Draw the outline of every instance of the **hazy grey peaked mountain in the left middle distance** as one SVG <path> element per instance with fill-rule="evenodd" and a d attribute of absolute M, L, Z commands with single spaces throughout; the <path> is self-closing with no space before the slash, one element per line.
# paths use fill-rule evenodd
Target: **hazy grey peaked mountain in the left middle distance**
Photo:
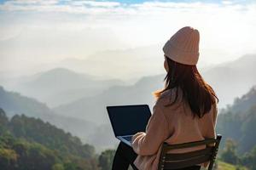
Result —
<path fill-rule="evenodd" d="M 125 82 L 118 79 L 102 80 L 65 68 L 55 68 L 30 77 L 15 77 L 15 81 L 9 81 L 6 86 L 49 106 L 56 106 L 100 94 L 113 85 L 125 85 Z"/>

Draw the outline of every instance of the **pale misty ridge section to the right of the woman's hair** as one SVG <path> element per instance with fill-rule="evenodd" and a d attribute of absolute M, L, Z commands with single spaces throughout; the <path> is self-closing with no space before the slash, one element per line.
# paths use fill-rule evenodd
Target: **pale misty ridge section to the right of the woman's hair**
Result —
<path fill-rule="evenodd" d="M 256 84 L 256 54 L 247 54 L 239 59 L 201 71 L 219 98 L 219 108 L 232 105 L 234 99 L 246 94 Z"/>

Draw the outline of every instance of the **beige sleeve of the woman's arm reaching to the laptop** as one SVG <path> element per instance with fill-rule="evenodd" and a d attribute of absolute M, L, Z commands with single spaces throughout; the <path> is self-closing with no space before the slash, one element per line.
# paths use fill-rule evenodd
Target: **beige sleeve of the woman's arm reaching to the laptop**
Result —
<path fill-rule="evenodd" d="M 160 105 L 154 105 L 153 114 L 148 121 L 146 132 L 139 132 L 132 137 L 132 148 L 141 156 L 154 155 L 168 137 L 166 116 Z"/>

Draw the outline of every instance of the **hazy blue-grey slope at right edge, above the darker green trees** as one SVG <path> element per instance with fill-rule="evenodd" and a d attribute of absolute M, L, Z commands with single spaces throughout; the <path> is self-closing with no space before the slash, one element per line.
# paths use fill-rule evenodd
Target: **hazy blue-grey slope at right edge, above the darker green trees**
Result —
<path fill-rule="evenodd" d="M 256 144 L 256 87 L 237 98 L 233 105 L 219 111 L 217 131 L 224 140 L 233 139 L 237 143 L 239 153 L 252 150 Z"/>

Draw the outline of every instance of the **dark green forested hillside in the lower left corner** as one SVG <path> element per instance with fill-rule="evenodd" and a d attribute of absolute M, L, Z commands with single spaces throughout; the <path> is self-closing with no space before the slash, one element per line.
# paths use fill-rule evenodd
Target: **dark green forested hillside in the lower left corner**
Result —
<path fill-rule="evenodd" d="M 0 167 L 19 170 L 96 170 L 94 147 L 49 122 L 0 109 Z"/>

